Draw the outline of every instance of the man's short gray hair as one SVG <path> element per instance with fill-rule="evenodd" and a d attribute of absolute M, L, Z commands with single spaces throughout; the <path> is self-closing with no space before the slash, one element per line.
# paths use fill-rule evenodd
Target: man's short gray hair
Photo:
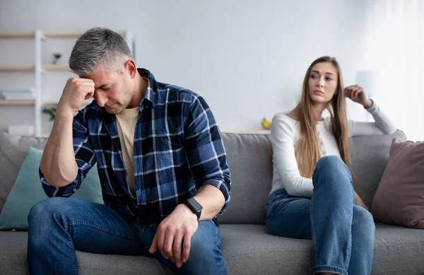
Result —
<path fill-rule="evenodd" d="M 69 57 L 69 68 L 78 76 L 88 76 L 103 64 L 106 69 L 122 73 L 124 58 L 133 57 L 121 35 L 107 28 L 92 28 L 76 40 Z"/>

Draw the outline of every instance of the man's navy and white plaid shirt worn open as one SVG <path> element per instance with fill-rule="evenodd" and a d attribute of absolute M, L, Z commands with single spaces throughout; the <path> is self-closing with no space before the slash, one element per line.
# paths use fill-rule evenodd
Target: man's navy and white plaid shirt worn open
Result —
<path fill-rule="evenodd" d="M 115 115 L 93 101 L 73 119 L 73 151 L 78 176 L 69 185 L 53 187 L 40 171 L 49 197 L 69 197 L 97 162 L 107 206 L 141 221 L 159 222 L 196 189 L 213 185 L 230 201 L 230 170 L 220 130 L 204 98 L 190 90 L 148 79 L 134 134 L 136 198 L 126 170 Z"/>

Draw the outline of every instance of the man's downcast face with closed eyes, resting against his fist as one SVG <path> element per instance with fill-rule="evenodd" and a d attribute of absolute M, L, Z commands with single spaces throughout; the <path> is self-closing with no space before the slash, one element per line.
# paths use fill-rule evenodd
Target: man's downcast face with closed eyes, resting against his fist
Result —
<path fill-rule="evenodd" d="M 89 76 L 94 81 L 95 91 L 93 98 L 100 107 L 110 114 L 122 112 L 132 98 L 131 78 L 123 70 L 122 74 L 111 69 L 108 70 L 100 64 Z"/>

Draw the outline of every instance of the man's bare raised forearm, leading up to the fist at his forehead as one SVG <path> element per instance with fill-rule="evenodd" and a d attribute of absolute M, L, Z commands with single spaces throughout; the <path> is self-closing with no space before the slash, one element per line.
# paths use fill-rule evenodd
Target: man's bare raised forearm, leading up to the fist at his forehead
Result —
<path fill-rule="evenodd" d="M 57 113 L 40 162 L 40 170 L 49 185 L 69 185 L 78 174 L 72 141 L 72 115 Z"/>

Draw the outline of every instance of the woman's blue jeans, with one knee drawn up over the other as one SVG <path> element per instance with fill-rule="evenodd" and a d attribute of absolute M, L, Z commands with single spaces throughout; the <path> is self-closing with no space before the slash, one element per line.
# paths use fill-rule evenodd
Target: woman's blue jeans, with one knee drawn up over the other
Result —
<path fill-rule="evenodd" d="M 285 189 L 266 202 L 271 235 L 312 239 L 311 272 L 371 274 L 375 224 L 370 212 L 355 205 L 351 172 L 337 156 L 321 158 L 312 176 L 311 199 Z"/>

